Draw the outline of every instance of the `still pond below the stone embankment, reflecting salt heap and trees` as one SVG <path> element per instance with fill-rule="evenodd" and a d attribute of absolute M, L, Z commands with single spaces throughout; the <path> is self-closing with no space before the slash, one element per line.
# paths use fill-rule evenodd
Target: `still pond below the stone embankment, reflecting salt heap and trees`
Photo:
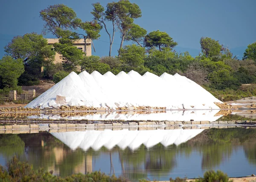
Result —
<path fill-rule="evenodd" d="M 253 128 L 121 131 L 1 134 L 0 165 L 17 155 L 59 176 L 100 170 L 131 181 L 195 178 L 209 169 L 232 177 L 256 173 Z"/>

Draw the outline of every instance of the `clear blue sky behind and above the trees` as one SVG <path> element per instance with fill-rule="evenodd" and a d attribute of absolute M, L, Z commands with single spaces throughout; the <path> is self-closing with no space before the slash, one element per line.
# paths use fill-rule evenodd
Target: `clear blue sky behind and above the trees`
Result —
<path fill-rule="evenodd" d="M 176 51 L 200 51 L 200 38 L 211 37 L 228 46 L 241 59 L 244 49 L 256 41 L 256 0 L 130 0 L 142 10 L 135 23 L 148 32 L 166 31 L 178 43 Z M 92 3 L 105 6 L 107 0 L 2 0 L 0 6 L 0 57 L 4 46 L 17 35 L 41 33 L 39 12 L 49 5 L 63 3 L 83 21 L 92 20 Z M 52 38 L 52 35 L 45 36 Z M 116 32 L 112 55 L 117 54 L 120 38 Z M 129 43 L 126 43 L 129 44 Z M 108 56 L 109 43 L 104 30 L 94 41 L 94 55 Z"/>

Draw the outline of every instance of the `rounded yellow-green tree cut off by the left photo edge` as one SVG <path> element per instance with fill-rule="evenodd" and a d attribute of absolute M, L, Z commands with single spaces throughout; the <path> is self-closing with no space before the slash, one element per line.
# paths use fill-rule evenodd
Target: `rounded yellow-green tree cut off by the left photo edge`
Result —
<path fill-rule="evenodd" d="M 4 56 L 0 60 L 0 89 L 17 87 L 18 78 L 24 72 L 21 59 Z"/>

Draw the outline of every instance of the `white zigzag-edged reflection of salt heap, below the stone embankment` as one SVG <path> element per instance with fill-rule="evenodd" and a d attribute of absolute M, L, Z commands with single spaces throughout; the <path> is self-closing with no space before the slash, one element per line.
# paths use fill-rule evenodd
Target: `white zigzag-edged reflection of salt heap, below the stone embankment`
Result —
<path fill-rule="evenodd" d="M 149 131 L 129 131 L 128 129 L 112 131 L 74 131 L 63 133 L 51 133 L 71 149 L 81 148 L 88 150 L 93 148 L 99 150 L 105 146 L 109 150 L 118 145 L 120 148 L 131 148 L 136 150 L 140 145 L 144 144 L 147 148 L 151 148 L 158 143 L 164 146 L 172 144 L 180 145 L 200 134 L 203 129 L 192 130 L 149 130 Z"/>

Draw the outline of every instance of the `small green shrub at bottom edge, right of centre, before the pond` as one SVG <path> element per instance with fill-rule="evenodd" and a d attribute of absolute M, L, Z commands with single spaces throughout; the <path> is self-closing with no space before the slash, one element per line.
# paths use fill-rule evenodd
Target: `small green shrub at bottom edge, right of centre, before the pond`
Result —
<path fill-rule="evenodd" d="M 227 174 L 222 171 L 206 171 L 204 173 L 204 178 L 196 179 L 195 182 L 232 182 L 229 180 Z"/>

